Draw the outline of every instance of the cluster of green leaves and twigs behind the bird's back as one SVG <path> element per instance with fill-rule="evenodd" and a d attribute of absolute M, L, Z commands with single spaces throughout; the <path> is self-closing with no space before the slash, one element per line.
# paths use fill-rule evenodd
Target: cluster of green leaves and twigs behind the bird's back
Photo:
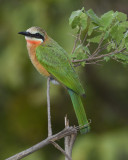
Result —
<path fill-rule="evenodd" d="M 72 29 L 76 29 L 76 42 L 79 42 L 74 50 L 74 56 L 71 55 L 73 62 L 83 65 L 84 61 L 85 65 L 88 61 L 97 63 L 98 59 L 103 61 L 115 59 L 123 64 L 128 64 L 126 14 L 108 11 L 99 17 L 92 9 L 85 11 L 82 8 L 72 12 L 69 25 Z M 93 47 L 94 45 L 95 47 Z"/>

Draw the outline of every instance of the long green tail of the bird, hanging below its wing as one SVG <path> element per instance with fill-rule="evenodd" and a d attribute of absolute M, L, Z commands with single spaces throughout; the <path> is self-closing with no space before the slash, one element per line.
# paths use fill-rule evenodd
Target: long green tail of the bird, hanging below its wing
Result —
<path fill-rule="evenodd" d="M 81 101 L 81 97 L 77 93 L 73 92 L 70 89 L 68 89 L 68 92 L 69 92 L 69 95 L 70 95 L 72 103 L 73 103 L 73 107 L 74 107 L 74 110 L 76 113 L 76 117 L 77 117 L 79 126 L 84 126 L 84 125 L 88 124 L 88 120 L 86 117 L 84 106 Z M 85 133 L 89 132 L 89 130 L 90 130 L 90 127 L 88 124 L 86 127 L 83 127 L 82 129 L 80 129 L 80 132 L 81 132 L 81 134 L 85 134 Z"/>

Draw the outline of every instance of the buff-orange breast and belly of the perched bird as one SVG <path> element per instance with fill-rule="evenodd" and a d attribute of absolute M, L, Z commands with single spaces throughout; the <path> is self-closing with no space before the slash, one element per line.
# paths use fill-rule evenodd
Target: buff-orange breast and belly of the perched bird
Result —
<path fill-rule="evenodd" d="M 31 43 L 27 43 L 27 49 L 28 49 L 28 54 L 29 57 L 31 59 L 31 62 L 33 63 L 34 67 L 38 70 L 38 72 L 40 72 L 41 74 L 43 74 L 44 76 L 49 77 L 50 74 L 47 72 L 47 70 L 39 63 L 39 61 L 36 58 L 36 47 L 39 44 L 31 44 Z"/>

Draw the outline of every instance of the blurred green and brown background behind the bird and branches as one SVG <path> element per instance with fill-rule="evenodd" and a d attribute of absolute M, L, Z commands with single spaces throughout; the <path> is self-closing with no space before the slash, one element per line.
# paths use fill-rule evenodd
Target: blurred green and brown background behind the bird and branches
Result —
<path fill-rule="evenodd" d="M 0 0 L 0 160 L 47 137 L 46 79 L 32 66 L 24 38 L 17 33 L 43 27 L 68 53 L 74 37 L 68 25 L 72 11 L 92 8 L 128 13 L 127 0 Z M 118 33 L 117 33 L 118 34 Z M 128 66 L 110 61 L 87 65 L 80 72 L 91 132 L 78 136 L 73 160 L 128 159 Z M 64 128 L 64 116 L 77 124 L 70 98 L 51 84 L 53 132 Z M 63 146 L 61 140 L 60 145 Z M 24 160 L 62 160 L 49 145 Z"/>

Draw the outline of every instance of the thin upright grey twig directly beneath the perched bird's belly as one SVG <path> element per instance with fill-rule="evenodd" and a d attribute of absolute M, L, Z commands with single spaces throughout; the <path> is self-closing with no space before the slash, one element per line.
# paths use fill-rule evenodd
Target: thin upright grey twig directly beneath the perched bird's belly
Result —
<path fill-rule="evenodd" d="M 51 112 L 50 112 L 50 78 L 47 79 L 47 112 L 48 112 L 48 137 L 52 135 Z"/>

